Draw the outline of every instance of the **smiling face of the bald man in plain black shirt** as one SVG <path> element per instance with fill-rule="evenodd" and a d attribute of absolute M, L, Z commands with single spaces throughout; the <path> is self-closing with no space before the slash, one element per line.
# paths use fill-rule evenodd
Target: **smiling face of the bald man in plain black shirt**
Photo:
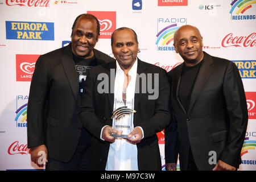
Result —
<path fill-rule="evenodd" d="M 196 27 L 189 25 L 180 27 L 174 35 L 174 47 L 188 67 L 203 60 L 203 38 Z"/>

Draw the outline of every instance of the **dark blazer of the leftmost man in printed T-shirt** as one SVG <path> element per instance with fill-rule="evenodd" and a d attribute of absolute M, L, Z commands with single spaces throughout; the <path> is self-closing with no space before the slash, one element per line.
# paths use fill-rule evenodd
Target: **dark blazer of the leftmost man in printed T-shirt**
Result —
<path fill-rule="evenodd" d="M 93 49 L 97 64 L 114 61 Z M 68 162 L 75 153 L 82 124 L 79 80 L 71 44 L 36 61 L 27 108 L 28 147 L 46 144 L 49 158 Z"/>

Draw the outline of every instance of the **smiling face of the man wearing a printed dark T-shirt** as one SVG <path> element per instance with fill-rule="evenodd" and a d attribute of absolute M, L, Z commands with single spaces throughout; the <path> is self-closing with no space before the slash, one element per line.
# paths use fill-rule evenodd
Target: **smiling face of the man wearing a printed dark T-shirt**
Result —
<path fill-rule="evenodd" d="M 80 18 L 71 35 L 72 52 L 78 57 L 90 58 L 98 42 L 97 23 L 93 19 Z"/>

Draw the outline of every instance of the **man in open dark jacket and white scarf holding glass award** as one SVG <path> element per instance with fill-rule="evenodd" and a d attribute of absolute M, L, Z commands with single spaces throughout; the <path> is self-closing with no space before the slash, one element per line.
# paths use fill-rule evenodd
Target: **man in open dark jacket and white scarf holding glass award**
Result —
<path fill-rule="evenodd" d="M 110 134 L 119 135 L 122 133 L 112 127 L 113 120 L 111 119 L 115 95 L 113 91 L 118 86 L 115 85 L 115 80 L 117 80 L 116 72 L 117 67 L 121 67 L 126 79 L 126 76 L 131 76 L 129 71 L 137 65 L 137 74 L 146 75 L 144 77 L 146 80 L 142 78 L 142 81 L 140 81 L 135 72 L 136 82 L 139 82 L 139 84 L 136 84 L 135 90 L 140 90 L 140 92 L 135 92 L 134 94 L 134 110 L 136 111 L 133 122 L 134 130 L 128 135 L 127 141 L 136 144 L 135 151 L 138 152 L 138 155 L 136 154 L 137 152 L 131 152 L 130 147 L 133 147 L 133 145 L 129 146 L 129 144 L 127 144 L 125 150 L 122 150 L 121 147 L 121 152 L 126 153 L 125 155 L 128 156 L 136 154 L 135 158 L 138 157 L 136 164 L 131 164 L 131 166 L 138 167 L 138 170 L 160 170 L 161 160 L 156 133 L 170 123 L 170 114 L 168 112 L 170 85 L 167 73 L 162 68 L 137 59 L 137 35 L 130 28 L 122 27 L 114 31 L 112 35 L 112 51 L 117 63 L 108 63 L 90 69 L 85 81 L 85 93 L 82 95 L 79 117 L 86 129 L 93 135 L 89 169 L 109 170 L 109 163 L 112 163 L 113 166 L 118 165 L 114 160 L 111 160 L 113 158 L 109 158 L 110 144 L 118 142 L 118 139 L 110 136 Z M 98 78 L 101 73 L 105 73 L 108 77 L 107 81 L 103 80 L 107 83 L 103 86 L 104 89 L 107 89 L 104 93 L 98 90 L 99 87 L 102 88 L 102 80 Z M 154 75 L 159 75 L 159 79 L 152 80 L 151 86 L 155 89 L 155 93 L 149 93 L 148 90 L 143 93 L 141 90 L 148 88 L 150 81 L 148 77 L 150 75 L 153 78 Z M 131 80 L 129 81 L 131 82 Z M 146 87 L 143 88 L 143 86 Z M 157 97 L 150 99 L 152 94 L 156 94 Z M 133 136 L 134 138 L 131 138 Z M 115 152 L 111 153 L 117 156 Z M 129 170 L 135 170 L 135 168 L 131 167 Z M 122 168 L 114 167 L 114 170 L 122 170 Z"/>

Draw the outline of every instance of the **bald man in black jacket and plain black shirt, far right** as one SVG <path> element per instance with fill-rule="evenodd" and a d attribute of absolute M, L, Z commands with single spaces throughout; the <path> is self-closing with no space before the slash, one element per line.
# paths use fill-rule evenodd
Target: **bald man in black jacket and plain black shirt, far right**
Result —
<path fill-rule="evenodd" d="M 168 72 L 176 119 L 165 133 L 166 168 L 175 169 L 176 143 L 181 170 L 236 170 L 248 121 L 238 69 L 203 52 L 196 27 L 180 27 L 174 46 L 184 63 Z"/>

